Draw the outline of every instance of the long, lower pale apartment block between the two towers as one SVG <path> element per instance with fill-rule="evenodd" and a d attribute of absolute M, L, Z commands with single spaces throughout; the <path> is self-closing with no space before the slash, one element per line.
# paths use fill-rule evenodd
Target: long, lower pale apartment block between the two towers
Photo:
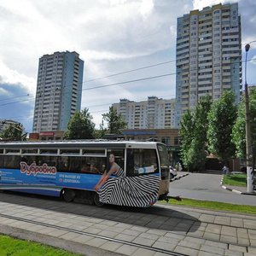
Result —
<path fill-rule="evenodd" d="M 148 101 L 120 99 L 113 108 L 121 113 L 127 129 L 170 129 L 175 125 L 175 100 L 148 96 Z"/>

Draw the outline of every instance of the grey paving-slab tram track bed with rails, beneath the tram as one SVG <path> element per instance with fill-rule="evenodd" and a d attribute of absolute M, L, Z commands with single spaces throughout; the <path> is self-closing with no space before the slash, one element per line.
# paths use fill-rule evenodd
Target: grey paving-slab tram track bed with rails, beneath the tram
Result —
<path fill-rule="evenodd" d="M 87 256 L 256 255 L 256 216 L 159 204 L 100 208 L 3 193 L 0 232 Z"/>

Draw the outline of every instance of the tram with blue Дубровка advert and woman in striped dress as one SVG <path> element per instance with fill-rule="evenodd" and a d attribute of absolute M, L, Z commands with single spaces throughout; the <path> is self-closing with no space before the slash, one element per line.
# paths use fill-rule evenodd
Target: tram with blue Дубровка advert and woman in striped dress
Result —
<path fill-rule="evenodd" d="M 166 199 L 169 166 L 166 145 L 155 142 L 0 143 L 0 189 L 97 206 L 149 207 Z"/>

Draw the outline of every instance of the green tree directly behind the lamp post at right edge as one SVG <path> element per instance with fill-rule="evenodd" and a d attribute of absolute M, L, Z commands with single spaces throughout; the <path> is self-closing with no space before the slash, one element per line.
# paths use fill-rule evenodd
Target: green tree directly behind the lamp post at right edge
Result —
<path fill-rule="evenodd" d="M 256 88 L 250 90 L 249 95 L 250 125 L 253 149 L 256 150 Z M 246 119 L 245 119 L 245 96 L 243 96 L 232 130 L 232 142 L 236 145 L 236 156 L 246 157 Z"/>

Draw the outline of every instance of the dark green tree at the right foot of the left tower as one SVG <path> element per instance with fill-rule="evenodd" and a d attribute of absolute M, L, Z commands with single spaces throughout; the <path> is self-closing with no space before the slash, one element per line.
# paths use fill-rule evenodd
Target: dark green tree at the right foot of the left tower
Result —
<path fill-rule="evenodd" d="M 88 108 L 73 114 L 67 125 L 65 139 L 92 139 L 95 124 L 92 122 L 92 115 Z"/>

